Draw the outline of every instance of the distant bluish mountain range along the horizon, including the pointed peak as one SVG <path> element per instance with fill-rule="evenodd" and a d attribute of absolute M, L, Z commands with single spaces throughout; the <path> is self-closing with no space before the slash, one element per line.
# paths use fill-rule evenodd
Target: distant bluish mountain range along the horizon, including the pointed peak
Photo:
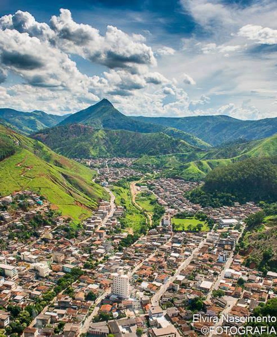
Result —
<path fill-rule="evenodd" d="M 277 132 L 277 118 L 245 121 L 223 115 L 134 117 L 123 115 L 107 99 L 102 99 L 75 114 L 64 116 L 50 115 L 41 111 L 27 113 L 0 109 L 0 122 L 24 134 L 66 124 L 84 124 L 96 129 L 138 133 L 163 132 L 201 149 L 208 149 L 211 145 L 219 146 L 237 139 L 248 141 L 262 139 Z"/>

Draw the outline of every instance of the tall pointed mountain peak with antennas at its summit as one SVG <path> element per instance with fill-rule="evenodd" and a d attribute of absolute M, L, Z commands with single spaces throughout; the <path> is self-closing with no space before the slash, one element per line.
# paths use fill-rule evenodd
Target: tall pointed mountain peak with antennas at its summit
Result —
<path fill-rule="evenodd" d="M 100 102 L 70 115 L 59 123 L 59 125 L 66 124 L 84 124 L 97 129 L 128 130 L 140 133 L 163 132 L 196 147 L 205 149 L 211 147 L 206 142 L 187 132 L 172 127 L 168 128 L 148 122 L 135 121 L 132 117 L 121 114 L 107 99 L 102 99 Z"/>

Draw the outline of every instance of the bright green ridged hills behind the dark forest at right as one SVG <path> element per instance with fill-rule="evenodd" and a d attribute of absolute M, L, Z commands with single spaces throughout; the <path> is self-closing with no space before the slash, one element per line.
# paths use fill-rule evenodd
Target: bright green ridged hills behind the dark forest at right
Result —
<path fill-rule="evenodd" d="M 239 145 L 214 148 L 207 151 L 175 153 L 163 156 L 142 156 L 134 166 L 146 172 L 153 168 L 163 170 L 163 175 L 178 176 L 185 179 L 203 179 L 217 166 L 253 157 L 277 155 L 277 134 L 257 141 Z"/>

